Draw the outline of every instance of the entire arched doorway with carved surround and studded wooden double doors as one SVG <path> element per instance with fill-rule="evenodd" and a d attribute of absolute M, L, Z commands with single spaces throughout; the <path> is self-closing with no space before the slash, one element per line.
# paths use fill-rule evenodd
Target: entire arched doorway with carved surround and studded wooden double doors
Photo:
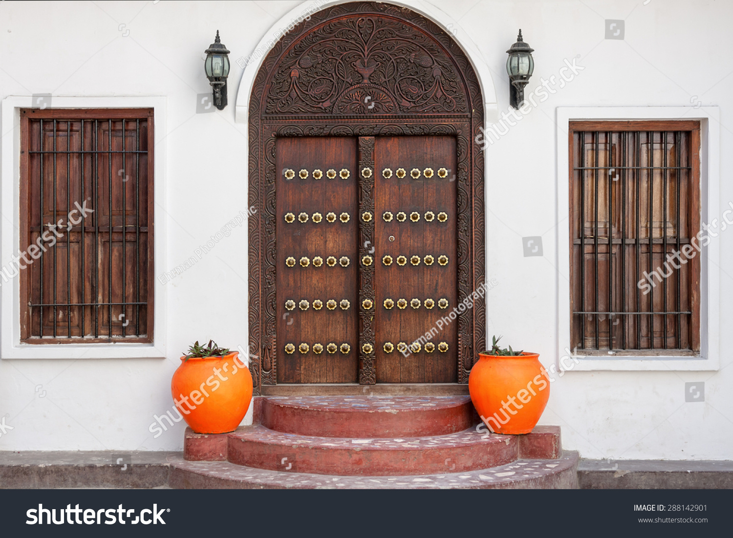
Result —
<path fill-rule="evenodd" d="M 484 108 L 453 37 L 405 7 L 328 7 L 262 62 L 248 122 L 256 388 L 467 383 L 485 347 Z"/>

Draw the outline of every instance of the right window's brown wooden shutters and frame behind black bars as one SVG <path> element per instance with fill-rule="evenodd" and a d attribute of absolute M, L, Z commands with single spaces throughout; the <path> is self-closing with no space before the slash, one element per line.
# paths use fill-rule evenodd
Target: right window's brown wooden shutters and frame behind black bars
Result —
<path fill-rule="evenodd" d="M 664 265 L 696 234 L 690 133 L 576 131 L 573 144 L 572 347 L 690 350 L 694 264 Z"/>

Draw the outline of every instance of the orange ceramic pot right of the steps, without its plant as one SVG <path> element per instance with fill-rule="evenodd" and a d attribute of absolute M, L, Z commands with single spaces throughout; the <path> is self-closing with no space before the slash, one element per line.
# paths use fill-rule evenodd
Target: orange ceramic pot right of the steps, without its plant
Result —
<path fill-rule="evenodd" d="M 479 356 L 468 376 L 468 391 L 482 421 L 495 433 L 531 432 L 550 398 L 539 354 Z"/>

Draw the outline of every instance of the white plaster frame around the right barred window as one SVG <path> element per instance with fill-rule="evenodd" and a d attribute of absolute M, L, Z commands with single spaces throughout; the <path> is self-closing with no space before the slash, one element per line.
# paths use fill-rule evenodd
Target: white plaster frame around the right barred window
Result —
<path fill-rule="evenodd" d="M 611 371 L 709 371 L 720 369 L 720 241 L 712 238 L 701 253 L 700 353 L 690 356 L 599 355 L 572 357 L 570 350 L 570 122 L 607 119 L 695 119 L 700 122 L 701 219 L 721 220 L 720 207 L 720 111 L 717 106 L 618 106 L 558 107 L 557 119 L 557 260 L 558 347 L 556 366 L 561 372 Z M 724 210 L 725 208 L 723 208 Z M 729 232 L 731 233 L 731 232 Z"/>

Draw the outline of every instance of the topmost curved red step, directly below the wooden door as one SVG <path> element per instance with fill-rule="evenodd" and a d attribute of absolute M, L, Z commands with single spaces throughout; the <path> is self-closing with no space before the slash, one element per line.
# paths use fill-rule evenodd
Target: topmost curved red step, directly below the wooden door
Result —
<path fill-rule="evenodd" d="M 290 396 L 261 400 L 263 426 L 298 435 L 423 437 L 462 432 L 478 423 L 468 396 Z"/>

